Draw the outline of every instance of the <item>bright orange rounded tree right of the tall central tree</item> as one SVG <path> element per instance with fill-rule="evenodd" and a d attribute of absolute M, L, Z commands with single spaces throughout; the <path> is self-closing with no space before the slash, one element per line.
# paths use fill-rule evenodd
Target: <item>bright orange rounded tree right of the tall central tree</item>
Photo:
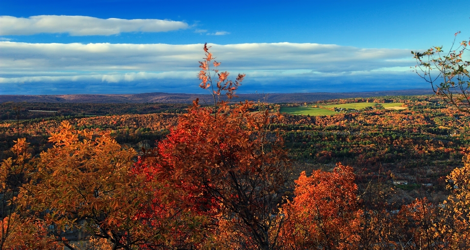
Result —
<path fill-rule="evenodd" d="M 332 172 L 302 172 L 295 181 L 294 198 L 282 207 L 281 229 L 286 249 L 356 249 L 360 210 L 354 173 L 340 163 Z"/>

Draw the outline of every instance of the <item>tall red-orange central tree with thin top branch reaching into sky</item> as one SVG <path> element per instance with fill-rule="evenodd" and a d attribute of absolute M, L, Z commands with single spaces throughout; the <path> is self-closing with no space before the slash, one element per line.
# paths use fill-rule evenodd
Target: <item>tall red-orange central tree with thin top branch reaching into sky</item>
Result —
<path fill-rule="evenodd" d="M 214 58 L 207 45 L 204 51 L 200 86 L 211 89 L 214 106 L 200 107 L 195 100 L 167 139 L 143 160 L 155 168 L 159 181 L 186 189 L 189 207 L 212 218 L 208 240 L 220 243 L 236 233 L 242 245 L 225 242 L 219 247 L 273 249 L 287 153 L 281 137 L 266 130 L 272 119 L 267 111 L 250 112 L 250 102 L 220 101 L 224 94 L 229 100 L 234 96 L 244 75 L 228 80 L 229 73 L 217 69 L 219 62 L 211 64 Z"/>

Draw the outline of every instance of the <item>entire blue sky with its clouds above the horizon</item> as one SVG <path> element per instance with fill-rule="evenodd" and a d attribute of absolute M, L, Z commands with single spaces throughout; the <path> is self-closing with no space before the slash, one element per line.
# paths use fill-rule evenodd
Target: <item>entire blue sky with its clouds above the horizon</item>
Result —
<path fill-rule="evenodd" d="M 410 50 L 470 36 L 468 0 L 0 0 L 0 94 L 204 93 L 208 42 L 239 93 L 429 87 Z"/>

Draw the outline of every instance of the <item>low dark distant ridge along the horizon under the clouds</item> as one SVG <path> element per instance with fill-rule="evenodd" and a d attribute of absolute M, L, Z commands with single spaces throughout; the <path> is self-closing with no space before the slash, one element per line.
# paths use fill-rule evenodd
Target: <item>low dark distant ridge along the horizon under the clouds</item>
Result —
<path fill-rule="evenodd" d="M 430 89 L 406 89 L 368 92 L 315 92 L 315 93 L 271 93 L 271 94 L 238 94 L 234 102 L 240 101 L 265 101 L 267 103 L 304 103 L 320 100 L 374 97 L 374 96 L 413 96 L 430 95 L 434 92 Z M 0 103 L 26 102 L 26 103 L 192 103 L 199 98 L 200 103 L 210 104 L 211 95 L 203 94 L 178 94 L 178 93 L 142 93 L 142 94 L 81 94 L 81 95 L 0 95 Z"/>

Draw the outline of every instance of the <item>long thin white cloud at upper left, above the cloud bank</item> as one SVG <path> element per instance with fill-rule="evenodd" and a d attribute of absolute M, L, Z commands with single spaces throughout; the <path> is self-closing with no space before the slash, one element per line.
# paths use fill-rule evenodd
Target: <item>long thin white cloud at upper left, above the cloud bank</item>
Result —
<path fill-rule="evenodd" d="M 0 16 L 0 35 L 69 33 L 71 36 L 115 35 L 122 32 L 165 32 L 188 28 L 188 23 L 159 19 L 99 19 L 86 16 Z"/>

